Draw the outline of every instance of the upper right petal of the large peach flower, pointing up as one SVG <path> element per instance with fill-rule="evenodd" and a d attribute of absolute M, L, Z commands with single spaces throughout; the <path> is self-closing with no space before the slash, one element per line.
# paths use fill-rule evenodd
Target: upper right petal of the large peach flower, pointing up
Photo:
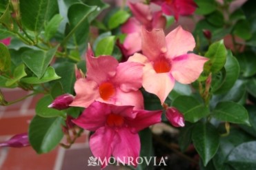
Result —
<path fill-rule="evenodd" d="M 169 59 L 186 54 L 188 51 L 193 51 L 195 47 L 195 39 L 193 35 L 185 31 L 179 26 L 166 36 L 167 54 Z"/>

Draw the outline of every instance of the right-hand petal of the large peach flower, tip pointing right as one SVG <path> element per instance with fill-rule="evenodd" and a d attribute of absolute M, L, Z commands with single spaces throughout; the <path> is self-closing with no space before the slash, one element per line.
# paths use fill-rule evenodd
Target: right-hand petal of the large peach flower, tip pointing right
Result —
<path fill-rule="evenodd" d="M 177 56 L 173 59 L 170 73 L 179 83 L 190 84 L 203 72 L 206 61 L 208 59 L 197 54 Z"/>

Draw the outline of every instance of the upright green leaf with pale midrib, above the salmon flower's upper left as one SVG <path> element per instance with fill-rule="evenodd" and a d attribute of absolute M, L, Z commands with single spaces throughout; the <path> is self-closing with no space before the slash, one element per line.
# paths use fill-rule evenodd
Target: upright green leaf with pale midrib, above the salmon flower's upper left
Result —
<path fill-rule="evenodd" d="M 68 34 L 63 39 L 66 44 L 70 37 L 75 34 L 79 43 L 84 43 L 89 32 L 88 14 L 96 9 L 95 6 L 86 6 L 83 3 L 75 3 L 68 9 L 69 28 Z"/>

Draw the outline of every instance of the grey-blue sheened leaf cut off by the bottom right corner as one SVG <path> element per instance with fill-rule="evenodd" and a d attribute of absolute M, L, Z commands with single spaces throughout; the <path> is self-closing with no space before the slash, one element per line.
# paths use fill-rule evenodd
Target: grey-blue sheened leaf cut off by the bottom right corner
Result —
<path fill-rule="evenodd" d="M 244 142 L 228 156 L 228 164 L 237 170 L 256 169 L 256 142 Z"/>

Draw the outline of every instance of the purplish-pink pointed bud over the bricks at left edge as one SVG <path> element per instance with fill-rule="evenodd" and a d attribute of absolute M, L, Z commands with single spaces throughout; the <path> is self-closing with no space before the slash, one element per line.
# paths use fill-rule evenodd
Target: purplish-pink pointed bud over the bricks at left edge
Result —
<path fill-rule="evenodd" d="M 6 142 L 0 142 L 0 147 L 27 147 L 29 145 L 28 133 L 17 134 Z"/>

